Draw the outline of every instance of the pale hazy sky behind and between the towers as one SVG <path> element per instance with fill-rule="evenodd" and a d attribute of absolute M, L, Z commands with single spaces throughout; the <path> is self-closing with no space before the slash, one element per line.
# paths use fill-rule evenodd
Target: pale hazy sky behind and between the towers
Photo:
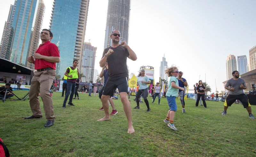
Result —
<path fill-rule="evenodd" d="M 0 0 L 0 36 L 14 0 Z M 42 28 L 49 28 L 53 0 L 44 0 Z M 129 60 L 130 73 L 136 75 L 140 66 L 159 67 L 165 54 L 168 66 L 183 71 L 189 88 L 200 79 L 215 93 L 224 90 L 226 57 L 246 55 L 256 45 L 256 1 L 238 0 L 132 0 L 128 45 L 136 53 L 136 61 Z M 108 0 L 90 0 L 85 41 L 97 47 L 95 69 L 104 49 Z M 64 18 L 64 17 L 63 17 Z"/>

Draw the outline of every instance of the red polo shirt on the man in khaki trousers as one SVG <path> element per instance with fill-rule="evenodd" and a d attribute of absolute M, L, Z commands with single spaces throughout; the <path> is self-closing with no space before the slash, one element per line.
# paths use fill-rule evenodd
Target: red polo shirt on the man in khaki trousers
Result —
<path fill-rule="evenodd" d="M 58 47 L 54 43 L 51 43 L 51 41 L 46 41 L 43 44 L 40 44 L 35 53 L 39 53 L 43 56 L 60 57 Z M 44 68 L 56 69 L 56 63 L 51 63 L 43 59 L 36 59 L 35 69 L 39 70 Z"/>

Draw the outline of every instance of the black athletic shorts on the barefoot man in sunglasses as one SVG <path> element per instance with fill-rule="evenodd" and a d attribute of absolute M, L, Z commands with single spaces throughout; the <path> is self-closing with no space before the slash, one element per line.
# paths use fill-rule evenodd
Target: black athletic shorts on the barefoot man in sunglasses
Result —
<path fill-rule="evenodd" d="M 109 79 L 106 82 L 106 85 L 103 90 L 103 95 L 113 96 L 114 91 L 118 88 L 119 93 L 125 92 L 128 90 L 128 77 L 120 78 L 120 79 Z"/>

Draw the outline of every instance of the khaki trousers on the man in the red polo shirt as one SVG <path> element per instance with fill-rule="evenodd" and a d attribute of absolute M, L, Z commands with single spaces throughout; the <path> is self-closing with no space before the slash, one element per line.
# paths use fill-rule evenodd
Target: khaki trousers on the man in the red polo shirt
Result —
<path fill-rule="evenodd" d="M 42 116 L 39 102 L 39 93 L 44 104 L 45 118 L 54 120 L 52 96 L 50 88 L 53 79 L 56 77 L 56 70 L 35 71 L 29 89 L 29 104 L 34 116 Z"/>

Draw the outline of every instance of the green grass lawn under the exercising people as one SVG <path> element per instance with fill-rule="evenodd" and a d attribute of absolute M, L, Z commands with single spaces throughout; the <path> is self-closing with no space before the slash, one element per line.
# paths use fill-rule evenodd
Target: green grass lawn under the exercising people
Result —
<path fill-rule="evenodd" d="M 22 97 L 27 91 L 15 91 Z M 104 116 L 98 97 L 79 93 L 75 106 L 63 109 L 64 97 L 54 92 L 55 123 L 45 128 L 43 118 L 24 120 L 31 116 L 29 100 L 0 101 L 0 138 L 11 156 L 256 156 L 256 120 L 250 119 L 241 104 L 228 108 L 223 116 L 223 102 L 206 101 L 207 107 L 195 107 L 194 100 L 185 100 L 186 113 L 178 111 L 173 131 L 163 122 L 168 112 L 165 98 L 136 106 L 131 96 L 132 121 L 135 133 L 128 134 L 123 105 L 114 100 L 118 114 L 110 121 L 97 122 Z M 111 108 L 111 107 L 110 107 Z M 256 116 L 256 106 L 252 105 Z"/>

